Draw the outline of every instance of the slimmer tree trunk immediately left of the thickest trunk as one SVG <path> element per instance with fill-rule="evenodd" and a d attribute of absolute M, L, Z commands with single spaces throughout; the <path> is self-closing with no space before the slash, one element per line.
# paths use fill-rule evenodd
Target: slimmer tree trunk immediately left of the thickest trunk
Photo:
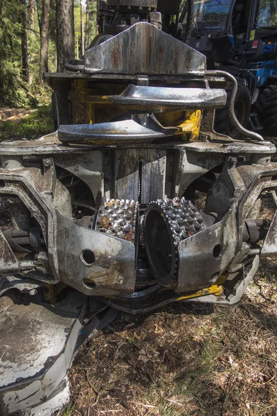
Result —
<path fill-rule="evenodd" d="M 44 0 L 42 2 L 42 25 L 40 28 L 39 78 L 41 79 L 43 73 L 48 71 L 49 10 L 50 0 Z"/>

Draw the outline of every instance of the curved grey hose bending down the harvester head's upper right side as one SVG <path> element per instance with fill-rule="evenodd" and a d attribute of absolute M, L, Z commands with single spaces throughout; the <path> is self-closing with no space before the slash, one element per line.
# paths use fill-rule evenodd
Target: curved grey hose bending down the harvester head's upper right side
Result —
<path fill-rule="evenodd" d="M 230 119 L 233 123 L 233 125 L 235 125 L 235 127 L 242 132 L 242 134 L 246 137 L 249 137 L 250 139 L 256 140 L 256 141 L 265 141 L 263 139 L 263 137 L 261 135 L 258 135 L 258 133 L 256 132 L 251 132 L 250 130 L 247 130 L 247 128 L 244 128 L 243 125 L 240 124 L 240 121 L 238 121 L 237 116 L 235 115 L 235 96 L 237 95 L 238 92 L 238 82 L 235 79 L 235 77 L 233 75 L 231 75 L 231 73 L 229 72 L 225 72 L 225 71 L 206 71 L 206 75 L 208 76 L 222 76 L 224 78 L 227 78 L 231 84 L 232 84 L 232 91 L 231 91 L 231 97 L 229 100 L 229 105 L 228 105 L 228 111 L 229 111 L 229 116 Z"/>

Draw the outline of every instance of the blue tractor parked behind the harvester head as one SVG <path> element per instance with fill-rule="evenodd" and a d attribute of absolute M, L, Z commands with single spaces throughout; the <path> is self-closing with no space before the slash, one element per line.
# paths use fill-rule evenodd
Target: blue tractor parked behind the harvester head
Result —
<path fill-rule="evenodd" d="M 240 123 L 276 137 L 277 0 L 195 0 L 189 44 L 206 55 L 208 69 L 223 69 L 237 78 Z M 225 107 L 217 112 L 216 130 L 239 139 L 227 120 Z"/>

